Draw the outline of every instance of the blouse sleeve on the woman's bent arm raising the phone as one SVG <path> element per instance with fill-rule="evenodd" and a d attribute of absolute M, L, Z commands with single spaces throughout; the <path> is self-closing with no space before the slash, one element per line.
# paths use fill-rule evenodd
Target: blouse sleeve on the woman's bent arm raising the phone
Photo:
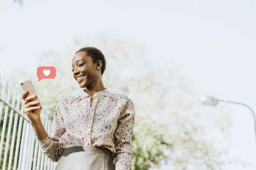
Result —
<path fill-rule="evenodd" d="M 61 135 L 63 135 L 63 133 L 66 131 L 64 127 L 63 117 L 59 109 L 62 102 L 63 100 L 58 102 L 56 106 L 50 134 L 48 134 L 45 139 L 38 140 L 42 153 L 44 153 L 47 157 L 49 157 L 49 159 L 54 162 L 57 162 L 60 159 L 61 155 L 58 149 L 58 141 Z"/>

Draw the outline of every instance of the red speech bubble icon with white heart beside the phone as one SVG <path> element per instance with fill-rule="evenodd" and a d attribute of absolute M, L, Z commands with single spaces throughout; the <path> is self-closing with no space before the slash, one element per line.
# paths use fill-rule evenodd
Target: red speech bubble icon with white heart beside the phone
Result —
<path fill-rule="evenodd" d="M 40 66 L 36 69 L 38 82 L 41 79 L 54 79 L 56 77 L 56 68 L 53 66 Z"/>

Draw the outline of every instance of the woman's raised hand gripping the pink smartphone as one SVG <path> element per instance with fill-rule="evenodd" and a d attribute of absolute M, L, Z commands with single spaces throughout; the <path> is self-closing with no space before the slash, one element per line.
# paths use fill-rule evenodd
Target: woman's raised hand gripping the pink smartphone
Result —
<path fill-rule="evenodd" d="M 35 101 L 35 102 L 31 102 L 32 99 L 36 98 L 36 95 L 26 97 L 27 94 L 28 94 L 28 91 L 24 91 L 24 93 L 22 95 L 22 99 L 24 100 L 23 111 L 24 111 L 24 113 L 26 113 L 30 122 L 33 124 L 40 120 L 41 110 L 39 110 L 39 109 L 41 108 L 41 106 L 35 106 L 40 103 L 39 100 Z M 39 111 L 37 111 L 37 110 L 39 110 Z"/>

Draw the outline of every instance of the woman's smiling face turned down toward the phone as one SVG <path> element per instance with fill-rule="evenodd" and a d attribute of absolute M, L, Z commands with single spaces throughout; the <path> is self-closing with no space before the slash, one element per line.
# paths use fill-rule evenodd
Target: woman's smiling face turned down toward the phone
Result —
<path fill-rule="evenodd" d="M 97 70 L 96 63 L 93 64 L 93 59 L 87 56 L 84 51 L 79 51 L 72 59 L 73 77 L 79 83 L 81 88 L 91 87 L 96 83 L 99 77 L 99 69 Z"/>

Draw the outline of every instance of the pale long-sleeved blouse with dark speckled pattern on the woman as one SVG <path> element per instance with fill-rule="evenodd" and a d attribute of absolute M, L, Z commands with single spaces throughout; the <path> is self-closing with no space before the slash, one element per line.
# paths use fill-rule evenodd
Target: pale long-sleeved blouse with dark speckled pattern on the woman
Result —
<path fill-rule="evenodd" d="M 126 95 L 103 91 L 91 97 L 85 91 L 58 102 L 50 134 L 39 140 L 42 152 L 57 162 L 64 148 L 105 147 L 115 158 L 116 170 L 129 170 L 133 154 L 135 110 Z"/>

